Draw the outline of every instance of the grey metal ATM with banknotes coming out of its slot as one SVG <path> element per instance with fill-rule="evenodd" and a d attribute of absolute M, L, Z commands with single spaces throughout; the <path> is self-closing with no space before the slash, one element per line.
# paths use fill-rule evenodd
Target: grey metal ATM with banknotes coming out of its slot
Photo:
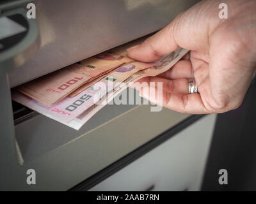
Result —
<path fill-rule="evenodd" d="M 0 189 L 200 190 L 216 115 L 107 105 L 76 131 L 13 102 L 10 94 L 17 85 L 154 33 L 196 2 L 1 1 L 0 28 L 14 29 L 0 35 Z M 29 3 L 36 18 L 26 16 Z M 29 185 L 31 169 L 36 184 Z"/>

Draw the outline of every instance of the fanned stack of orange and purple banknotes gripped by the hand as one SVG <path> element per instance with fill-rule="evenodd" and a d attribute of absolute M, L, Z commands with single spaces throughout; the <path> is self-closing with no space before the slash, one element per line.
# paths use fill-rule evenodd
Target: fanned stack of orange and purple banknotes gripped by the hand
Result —
<path fill-rule="evenodd" d="M 127 43 L 19 85 L 12 90 L 12 99 L 78 130 L 128 85 L 163 73 L 188 52 L 178 48 L 159 61 L 144 63 L 126 54 L 139 43 Z"/>

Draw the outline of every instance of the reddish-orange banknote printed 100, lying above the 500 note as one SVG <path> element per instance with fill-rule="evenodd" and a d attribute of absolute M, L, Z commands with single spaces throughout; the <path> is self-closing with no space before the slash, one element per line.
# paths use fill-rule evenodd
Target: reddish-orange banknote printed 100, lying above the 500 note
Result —
<path fill-rule="evenodd" d="M 110 50 L 36 78 L 16 89 L 44 105 L 51 106 L 68 96 L 77 87 L 130 61 L 132 59 L 129 57 Z"/>

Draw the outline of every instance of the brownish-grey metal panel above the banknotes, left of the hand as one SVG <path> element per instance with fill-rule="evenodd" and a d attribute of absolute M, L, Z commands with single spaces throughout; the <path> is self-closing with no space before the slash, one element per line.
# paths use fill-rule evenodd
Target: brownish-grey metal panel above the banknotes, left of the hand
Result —
<path fill-rule="evenodd" d="M 63 68 L 168 24 L 195 0 L 40 0 L 36 4 L 41 46 L 10 73 L 10 85 Z"/>

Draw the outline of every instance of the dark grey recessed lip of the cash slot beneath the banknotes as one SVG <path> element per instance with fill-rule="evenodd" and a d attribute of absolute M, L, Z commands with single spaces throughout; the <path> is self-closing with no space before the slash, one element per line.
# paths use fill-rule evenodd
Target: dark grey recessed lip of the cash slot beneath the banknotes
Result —
<path fill-rule="evenodd" d="M 11 90 L 13 89 L 15 87 Z M 138 95 L 138 92 L 136 94 Z M 15 138 L 22 159 L 24 163 L 34 161 L 138 107 L 139 105 L 106 105 L 93 115 L 92 119 L 86 122 L 79 131 L 76 131 L 12 100 Z"/>

